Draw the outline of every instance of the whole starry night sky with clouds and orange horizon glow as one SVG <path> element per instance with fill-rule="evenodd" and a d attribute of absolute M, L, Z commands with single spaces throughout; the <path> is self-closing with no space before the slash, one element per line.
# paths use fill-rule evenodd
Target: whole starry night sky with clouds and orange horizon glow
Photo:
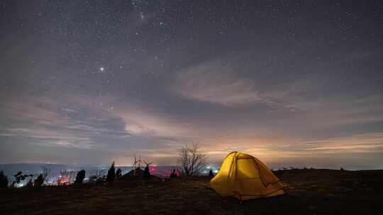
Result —
<path fill-rule="evenodd" d="M 0 47 L 0 163 L 383 168 L 382 1 L 0 0 Z"/>

